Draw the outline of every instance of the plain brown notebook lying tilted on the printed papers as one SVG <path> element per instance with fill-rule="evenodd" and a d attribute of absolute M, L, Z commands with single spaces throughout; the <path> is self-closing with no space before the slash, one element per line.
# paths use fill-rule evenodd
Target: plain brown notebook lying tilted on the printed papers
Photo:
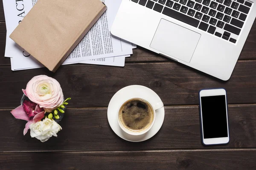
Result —
<path fill-rule="evenodd" d="M 100 0 L 38 0 L 10 38 L 55 72 L 106 9 Z"/>

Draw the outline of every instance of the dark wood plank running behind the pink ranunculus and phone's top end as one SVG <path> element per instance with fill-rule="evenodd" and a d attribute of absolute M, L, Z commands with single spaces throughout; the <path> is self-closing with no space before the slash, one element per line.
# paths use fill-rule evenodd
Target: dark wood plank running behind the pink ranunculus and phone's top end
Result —
<path fill-rule="evenodd" d="M 256 103 L 256 61 L 237 63 L 227 82 L 215 79 L 178 63 L 136 63 L 125 68 L 66 65 L 56 73 L 46 68 L 11 71 L 0 68 L 0 108 L 19 105 L 27 82 L 34 76 L 47 74 L 57 79 L 66 97 L 71 97 L 69 107 L 107 107 L 112 96 L 128 85 L 144 85 L 154 90 L 165 105 L 198 105 L 198 91 L 202 88 L 227 89 L 229 104 Z M 100 97 L 99 97 L 100 96 Z"/>

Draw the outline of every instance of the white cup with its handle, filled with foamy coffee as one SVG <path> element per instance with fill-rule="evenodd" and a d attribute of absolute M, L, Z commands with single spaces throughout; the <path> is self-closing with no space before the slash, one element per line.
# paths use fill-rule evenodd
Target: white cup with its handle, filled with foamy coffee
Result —
<path fill-rule="evenodd" d="M 131 98 L 122 102 L 118 109 L 118 124 L 130 135 L 142 135 L 154 125 L 156 110 L 163 108 L 163 102 L 148 102 L 142 98 Z"/>

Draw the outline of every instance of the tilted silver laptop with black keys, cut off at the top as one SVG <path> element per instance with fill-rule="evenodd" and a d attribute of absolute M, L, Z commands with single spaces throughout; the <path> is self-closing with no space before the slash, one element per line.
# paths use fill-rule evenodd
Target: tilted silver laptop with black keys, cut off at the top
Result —
<path fill-rule="evenodd" d="M 228 80 L 256 17 L 256 0 L 122 0 L 111 34 Z"/>

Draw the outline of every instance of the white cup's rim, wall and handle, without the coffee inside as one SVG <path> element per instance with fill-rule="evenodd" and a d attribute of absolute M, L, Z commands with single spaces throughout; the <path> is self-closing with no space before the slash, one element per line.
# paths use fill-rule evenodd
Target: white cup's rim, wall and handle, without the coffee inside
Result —
<path fill-rule="evenodd" d="M 119 118 L 119 111 L 120 111 L 122 105 L 124 105 L 129 100 L 133 100 L 133 99 L 138 99 L 138 100 L 145 101 L 148 105 L 150 105 L 151 108 L 153 108 L 153 111 L 154 111 L 154 118 L 153 118 L 153 121 L 151 122 L 151 125 L 149 125 L 147 128 L 145 128 L 144 130 L 141 130 L 141 131 L 132 131 L 132 130 L 129 130 L 129 129 L 125 128 L 125 126 L 122 124 L 122 122 L 121 122 L 121 120 Z M 148 130 L 150 130 L 151 127 L 154 125 L 154 121 L 155 121 L 155 118 L 156 118 L 156 110 L 158 110 L 160 108 L 163 108 L 163 102 L 162 101 L 158 101 L 156 103 L 151 103 L 151 102 L 148 102 L 146 99 L 142 99 L 142 98 L 139 98 L 139 97 L 134 97 L 134 98 L 125 100 L 125 102 L 122 102 L 122 105 L 120 105 L 118 110 L 117 110 L 117 121 L 118 121 L 118 124 L 119 124 L 120 128 L 125 133 L 128 133 L 130 135 L 143 135 L 144 133 L 147 133 Z"/>

